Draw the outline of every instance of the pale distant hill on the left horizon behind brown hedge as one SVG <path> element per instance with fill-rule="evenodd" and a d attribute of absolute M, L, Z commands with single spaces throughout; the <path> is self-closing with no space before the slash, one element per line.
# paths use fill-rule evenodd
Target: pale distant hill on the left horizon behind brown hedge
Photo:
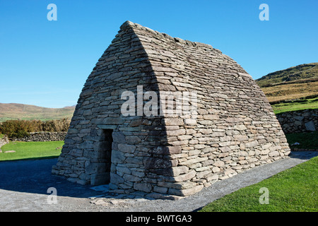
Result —
<path fill-rule="evenodd" d="M 47 108 L 38 107 L 35 105 L 23 104 L 1 104 L 0 103 L 0 121 L 9 119 L 24 119 L 24 120 L 52 120 L 73 117 L 75 106 L 63 108 Z"/>

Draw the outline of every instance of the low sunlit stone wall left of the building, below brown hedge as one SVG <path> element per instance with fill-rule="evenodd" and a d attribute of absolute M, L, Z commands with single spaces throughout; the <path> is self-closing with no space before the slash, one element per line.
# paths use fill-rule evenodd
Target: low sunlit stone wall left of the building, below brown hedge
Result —
<path fill-rule="evenodd" d="M 36 132 L 30 133 L 30 136 L 23 138 L 14 138 L 11 141 L 64 141 L 67 132 Z"/>

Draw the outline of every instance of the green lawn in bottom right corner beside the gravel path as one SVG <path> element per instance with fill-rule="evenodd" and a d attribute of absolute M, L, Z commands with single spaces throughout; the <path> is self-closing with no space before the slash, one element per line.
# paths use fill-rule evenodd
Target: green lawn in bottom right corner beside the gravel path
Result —
<path fill-rule="evenodd" d="M 258 184 L 228 194 L 201 212 L 318 211 L 318 157 L 280 172 Z M 269 204 L 260 204 L 259 189 L 269 189 Z"/>

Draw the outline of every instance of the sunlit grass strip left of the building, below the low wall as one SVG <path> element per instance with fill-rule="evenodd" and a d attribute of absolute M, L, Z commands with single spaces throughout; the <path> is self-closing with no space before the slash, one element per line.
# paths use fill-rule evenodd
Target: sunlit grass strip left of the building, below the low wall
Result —
<path fill-rule="evenodd" d="M 10 142 L 1 147 L 0 161 L 58 157 L 61 153 L 61 148 L 59 147 L 63 145 L 64 141 Z M 4 153 L 8 150 L 15 150 L 16 152 Z"/>

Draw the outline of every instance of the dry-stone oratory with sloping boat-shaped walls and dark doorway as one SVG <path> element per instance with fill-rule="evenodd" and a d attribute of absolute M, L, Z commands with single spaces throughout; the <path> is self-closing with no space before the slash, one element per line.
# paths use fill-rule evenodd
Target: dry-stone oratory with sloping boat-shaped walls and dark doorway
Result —
<path fill-rule="evenodd" d="M 88 76 L 52 173 L 177 198 L 289 153 L 264 93 L 233 59 L 126 21 Z"/>

